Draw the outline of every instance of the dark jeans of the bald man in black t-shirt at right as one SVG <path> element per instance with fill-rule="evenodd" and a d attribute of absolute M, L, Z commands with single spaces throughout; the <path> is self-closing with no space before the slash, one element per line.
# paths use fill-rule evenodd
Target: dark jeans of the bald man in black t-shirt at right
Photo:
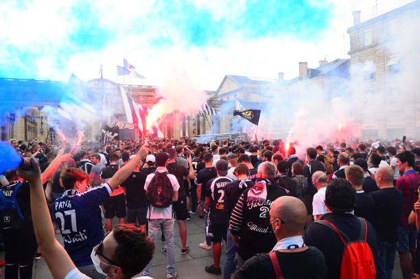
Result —
<path fill-rule="evenodd" d="M 377 269 L 377 278 L 392 279 L 397 243 L 380 242 L 379 250 L 380 254 L 377 260 L 379 269 Z"/>

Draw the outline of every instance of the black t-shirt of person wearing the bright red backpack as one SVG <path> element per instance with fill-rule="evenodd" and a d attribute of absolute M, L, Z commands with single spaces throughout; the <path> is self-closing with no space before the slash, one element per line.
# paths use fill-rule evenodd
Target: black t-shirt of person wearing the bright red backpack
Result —
<path fill-rule="evenodd" d="M 351 213 L 327 213 L 321 219 L 325 219 L 334 224 L 339 230 L 344 232 L 352 241 L 360 236 L 360 223 Z M 375 228 L 367 221 L 367 243 L 371 247 L 373 258 L 375 258 L 375 266 L 377 266 L 378 236 Z M 340 236 L 334 230 L 318 223 L 310 223 L 305 230 L 303 240 L 306 245 L 315 246 L 325 256 L 325 263 L 328 267 L 329 279 L 340 278 L 340 266 L 344 244 Z"/>

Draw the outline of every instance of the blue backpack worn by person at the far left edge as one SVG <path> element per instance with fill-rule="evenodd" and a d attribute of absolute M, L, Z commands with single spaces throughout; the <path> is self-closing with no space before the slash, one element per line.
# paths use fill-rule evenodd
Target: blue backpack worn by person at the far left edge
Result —
<path fill-rule="evenodd" d="M 0 228 L 3 230 L 23 228 L 25 224 L 25 217 L 23 217 L 16 199 L 21 184 L 22 182 L 19 182 L 14 186 L 10 197 L 6 197 L 0 190 Z"/>

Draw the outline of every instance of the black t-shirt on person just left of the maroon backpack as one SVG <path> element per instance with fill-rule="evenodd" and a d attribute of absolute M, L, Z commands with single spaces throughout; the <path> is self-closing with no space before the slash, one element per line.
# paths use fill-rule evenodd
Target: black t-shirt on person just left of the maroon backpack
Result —
<path fill-rule="evenodd" d="M 128 208 L 143 208 L 148 206 L 145 196 L 144 184 L 148 177 L 142 171 L 133 171 L 126 181 L 121 183 L 121 187 L 126 190 L 126 206 Z"/>

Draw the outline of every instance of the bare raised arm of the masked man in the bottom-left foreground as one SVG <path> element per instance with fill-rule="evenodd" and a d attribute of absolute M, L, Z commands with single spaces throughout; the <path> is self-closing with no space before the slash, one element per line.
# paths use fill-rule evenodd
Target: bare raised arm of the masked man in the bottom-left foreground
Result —
<path fill-rule="evenodd" d="M 30 183 L 31 213 L 36 243 L 43 252 L 43 257 L 52 276 L 55 279 L 62 279 L 72 269 L 75 269 L 75 265 L 64 247 L 56 240 L 45 199 L 40 169 L 36 160 L 31 158 L 31 161 L 32 169 L 29 171 L 18 169 L 18 175 Z"/>

